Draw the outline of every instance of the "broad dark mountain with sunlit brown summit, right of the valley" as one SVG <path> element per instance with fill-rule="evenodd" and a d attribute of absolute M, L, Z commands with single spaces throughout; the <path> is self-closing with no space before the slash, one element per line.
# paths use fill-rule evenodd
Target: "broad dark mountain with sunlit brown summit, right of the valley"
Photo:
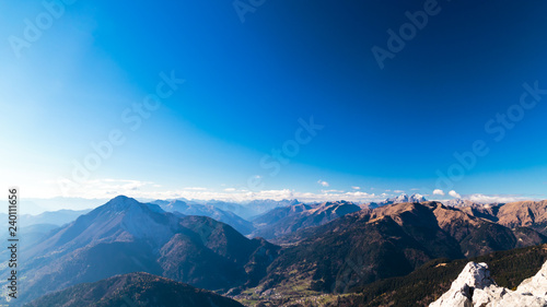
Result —
<path fill-rule="evenodd" d="M 300 241 L 274 261 L 261 290 L 307 284 L 314 291 L 341 293 L 408 274 L 435 258 L 475 257 L 547 241 L 531 228 L 509 228 L 440 202 L 362 210 L 296 234 Z"/>

